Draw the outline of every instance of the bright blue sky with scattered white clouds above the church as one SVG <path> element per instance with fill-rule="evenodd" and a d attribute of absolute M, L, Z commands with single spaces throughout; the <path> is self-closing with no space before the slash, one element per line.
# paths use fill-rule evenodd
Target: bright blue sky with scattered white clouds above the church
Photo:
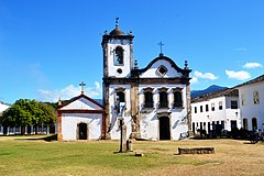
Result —
<path fill-rule="evenodd" d="M 263 0 L 0 0 L 0 101 L 101 98 L 106 30 L 133 32 L 145 67 L 163 53 L 193 69 L 191 89 L 263 74 Z"/>

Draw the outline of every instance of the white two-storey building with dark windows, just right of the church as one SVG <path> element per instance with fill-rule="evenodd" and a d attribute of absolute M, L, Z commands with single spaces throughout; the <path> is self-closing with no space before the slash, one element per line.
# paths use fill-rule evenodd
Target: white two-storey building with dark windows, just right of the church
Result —
<path fill-rule="evenodd" d="M 206 130 L 221 132 L 241 128 L 239 91 L 226 89 L 191 100 L 193 132 Z"/>

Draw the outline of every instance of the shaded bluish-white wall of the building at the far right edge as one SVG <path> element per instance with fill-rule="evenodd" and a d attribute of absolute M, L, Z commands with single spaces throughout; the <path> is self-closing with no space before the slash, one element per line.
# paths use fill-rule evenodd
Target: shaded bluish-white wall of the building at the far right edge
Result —
<path fill-rule="evenodd" d="M 260 103 L 253 103 L 253 91 L 258 91 Z M 248 119 L 249 130 L 252 129 L 252 118 L 257 119 L 257 129 L 264 131 L 264 81 L 239 87 L 241 120 Z M 245 106 L 242 106 L 241 96 L 245 95 Z M 243 124 L 242 124 L 243 125 Z"/>

